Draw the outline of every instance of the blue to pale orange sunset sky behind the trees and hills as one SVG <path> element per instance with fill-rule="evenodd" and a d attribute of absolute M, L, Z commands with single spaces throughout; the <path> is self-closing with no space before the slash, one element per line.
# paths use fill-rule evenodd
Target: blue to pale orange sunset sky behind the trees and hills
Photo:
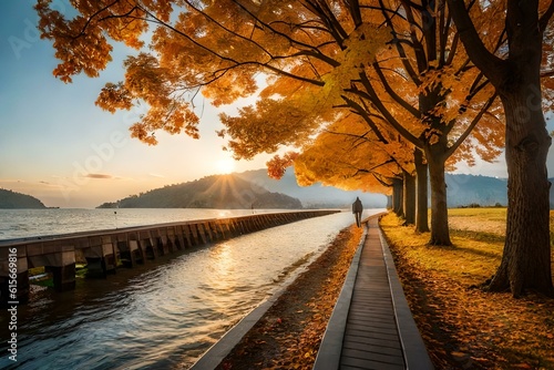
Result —
<path fill-rule="evenodd" d="M 157 133 L 158 144 L 148 146 L 131 138 L 129 126 L 140 109 L 111 114 L 94 105 L 106 82 L 123 80 L 124 47 L 116 47 L 100 78 L 75 76 L 64 84 L 52 75 L 58 62 L 51 43 L 39 38 L 33 3 L 7 0 L 0 16 L 0 188 L 32 195 L 49 207 L 92 208 L 212 174 L 265 167 L 270 155 L 235 162 L 222 150 L 218 113 L 233 114 L 236 106 L 216 110 L 202 99 L 196 101 L 199 140 Z M 54 4 L 69 11 L 61 0 Z M 474 167 L 461 164 L 458 172 L 507 176 L 502 157 Z"/>

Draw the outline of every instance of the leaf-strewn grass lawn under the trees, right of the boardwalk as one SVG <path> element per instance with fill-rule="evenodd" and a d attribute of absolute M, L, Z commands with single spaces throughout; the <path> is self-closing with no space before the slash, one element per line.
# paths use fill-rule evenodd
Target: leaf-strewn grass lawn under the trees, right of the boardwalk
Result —
<path fill-rule="evenodd" d="M 505 208 L 450 209 L 452 247 L 429 246 L 429 234 L 393 214 L 381 219 L 437 369 L 554 369 L 554 299 L 476 288 L 500 265 L 505 216 Z"/>

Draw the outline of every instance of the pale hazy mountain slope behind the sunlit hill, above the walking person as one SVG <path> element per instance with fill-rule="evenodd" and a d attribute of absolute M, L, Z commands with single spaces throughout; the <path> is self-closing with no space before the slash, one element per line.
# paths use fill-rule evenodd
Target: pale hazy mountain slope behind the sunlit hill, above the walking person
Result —
<path fill-rule="evenodd" d="M 332 186 L 315 184 L 299 186 L 294 171 L 287 169 L 281 179 L 267 176 L 267 169 L 247 171 L 237 176 L 243 177 L 269 192 L 279 192 L 300 199 L 307 208 L 345 208 L 350 207 L 357 196 L 360 197 L 365 208 L 384 208 L 387 197 L 382 194 L 347 192 Z"/>

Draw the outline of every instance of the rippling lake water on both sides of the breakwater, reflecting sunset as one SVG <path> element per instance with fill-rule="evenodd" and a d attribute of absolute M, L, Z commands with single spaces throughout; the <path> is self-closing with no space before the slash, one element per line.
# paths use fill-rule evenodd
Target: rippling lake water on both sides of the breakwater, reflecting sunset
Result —
<path fill-rule="evenodd" d="M 126 210 L 116 210 L 122 224 L 117 227 L 235 213 L 187 216 L 192 210 L 164 209 L 157 212 L 167 215 L 154 216 L 153 209 Z M 104 219 L 99 228 L 113 228 L 115 223 L 113 209 L 44 212 L 73 212 L 75 224 L 89 227 L 90 219 Z M 138 217 L 132 216 L 134 212 L 152 214 L 155 220 L 132 224 Z M 367 210 L 365 216 L 376 212 Z M 23 229 L 43 235 L 83 230 L 71 228 L 61 217 L 27 225 L 21 222 L 28 217 L 24 212 L 7 217 L 13 220 L 4 225 L 4 213 L 1 229 L 8 238 L 31 236 Z M 107 279 L 78 279 L 73 291 L 31 286 L 30 302 L 18 308 L 17 366 L 8 359 L 8 312 L 0 311 L 0 368 L 186 369 L 253 308 L 300 274 L 352 222 L 352 214 L 345 212 L 278 226 L 119 269 Z"/>

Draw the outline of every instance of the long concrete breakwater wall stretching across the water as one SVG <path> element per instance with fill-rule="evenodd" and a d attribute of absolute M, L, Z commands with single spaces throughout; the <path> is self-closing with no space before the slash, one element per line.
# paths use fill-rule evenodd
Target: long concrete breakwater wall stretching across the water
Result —
<path fill-rule="evenodd" d="M 146 264 L 176 250 L 337 212 L 257 214 L 6 243 L 0 245 L 0 305 L 28 300 L 30 268 L 44 267 L 54 289 L 71 290 L 75 264 L 86 265 L 88 276 L 106 277 L 116 268 Z"/>

